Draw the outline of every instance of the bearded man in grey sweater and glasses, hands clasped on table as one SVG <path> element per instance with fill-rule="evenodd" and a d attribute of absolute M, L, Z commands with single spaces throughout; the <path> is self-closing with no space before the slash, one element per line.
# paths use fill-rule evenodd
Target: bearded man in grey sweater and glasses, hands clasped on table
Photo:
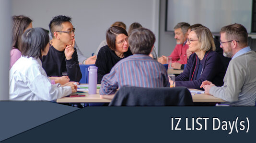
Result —
<path fill-rule="evenodd" d="M 243 25 L 231 24 L 221 28 L 223 55 L 232 58 L 224 77 L 224 85 L 217 87 L 204 81 L 201 88 L 232 106 L 255 106 L 256 52 L 248 46 L 248 33 Z"/>

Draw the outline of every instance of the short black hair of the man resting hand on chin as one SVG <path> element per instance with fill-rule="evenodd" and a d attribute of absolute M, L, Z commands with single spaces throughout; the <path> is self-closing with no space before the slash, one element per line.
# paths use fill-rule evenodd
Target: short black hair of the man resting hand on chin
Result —
<path fill-rule="evenodd" d="M 71 18 L 65 15 L 58 15 L 54 17 L 49 23 L 49 29 L 51 31 L 52 38 L 54 38 L 54 32 L 62 29 L 63 22 L 71 22 Z"/>

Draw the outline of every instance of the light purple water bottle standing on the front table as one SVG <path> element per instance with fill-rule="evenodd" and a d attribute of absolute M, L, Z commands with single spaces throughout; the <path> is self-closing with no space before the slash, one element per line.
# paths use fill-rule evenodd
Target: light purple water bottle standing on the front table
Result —
<path fill-rule="evenodd" d="M 97 89 L 97 67 L 96 66 L 90 66 L 88 68 L 89 71 L 89 94 L 96 94 Z"/>

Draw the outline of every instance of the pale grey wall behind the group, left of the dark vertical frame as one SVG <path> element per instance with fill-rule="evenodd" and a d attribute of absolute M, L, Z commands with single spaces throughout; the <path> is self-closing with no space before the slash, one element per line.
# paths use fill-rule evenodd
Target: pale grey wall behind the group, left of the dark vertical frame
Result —
<path fill-rule="evenodd" d="M 139 22 L 156 35 L 158 48 L 160 0 L 12 0 L 12 15 L 25 15 L 33 27 L 47 30 L 57 15 L 72 18 L 75 39 L 82 53 L 89 57 L 105 39 L 105 31 L 115 21 L 123 21 L 127 30 Z"/>

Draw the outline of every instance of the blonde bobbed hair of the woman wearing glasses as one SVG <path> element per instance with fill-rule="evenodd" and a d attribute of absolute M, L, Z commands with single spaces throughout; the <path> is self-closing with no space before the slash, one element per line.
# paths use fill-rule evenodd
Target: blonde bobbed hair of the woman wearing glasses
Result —
<path fill-rule="evenodd" d="M 194 31 L 197 34 L 198 42 L 201 44 L 199 50 L 215 51 L 216 47 L 209 28 L 205 26 L 199 26 L 196 28 L 192 28 L 191 31 Z"/>

